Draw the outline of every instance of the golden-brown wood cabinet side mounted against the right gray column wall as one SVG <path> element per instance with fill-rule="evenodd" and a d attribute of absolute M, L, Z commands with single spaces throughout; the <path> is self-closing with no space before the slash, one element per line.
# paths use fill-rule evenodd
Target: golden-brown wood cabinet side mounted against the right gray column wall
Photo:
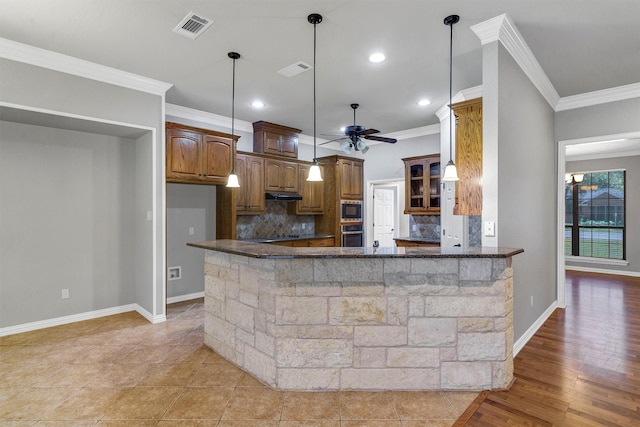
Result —
<path fill-rule="evenodd" d="M 454 215 L 482 215 L 482 98 L 453 104 L 456 116 Z"/>

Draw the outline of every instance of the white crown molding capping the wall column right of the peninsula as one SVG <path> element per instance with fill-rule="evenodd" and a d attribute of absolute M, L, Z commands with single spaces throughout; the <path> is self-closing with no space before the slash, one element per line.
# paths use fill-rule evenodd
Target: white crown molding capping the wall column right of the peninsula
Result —
<path fill-rule="evenodd" d="M 505 13 L 473 25 L 471 30 L 478 36 L 483 46 L 500 41 L 551 108 L 555 110 L 560 101 L 560 95 L 509 15 Z"/>

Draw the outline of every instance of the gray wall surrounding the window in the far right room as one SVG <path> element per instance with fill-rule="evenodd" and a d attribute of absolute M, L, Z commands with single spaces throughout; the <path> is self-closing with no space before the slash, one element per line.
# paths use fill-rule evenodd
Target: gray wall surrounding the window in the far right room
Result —
<path fill-rule="evenodd" d="M 584 264 L 580 262 L 566 261 L 567 266 L 582 266 L 601 270 L 629 271 L 640 273 L 640 197 L 637 189 L 640 188 L 640 156 L 614 157 L 608 159 L 582 160 L 567 162 L 566 171 L 588 172 L 613 169 L 626 170 L 627 199 L 625 204 L 626 218 L 626 248 L 629 265 Z"/>

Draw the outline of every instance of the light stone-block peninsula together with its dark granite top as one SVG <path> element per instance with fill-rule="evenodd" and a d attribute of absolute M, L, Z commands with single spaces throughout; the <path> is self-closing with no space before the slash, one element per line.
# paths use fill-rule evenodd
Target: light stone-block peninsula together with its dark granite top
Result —
<path fill-rule="evenodd" d="M 486 390 L 513 379 L 510 248 L 205 252 L 205 344 L 278 390 Z"/>

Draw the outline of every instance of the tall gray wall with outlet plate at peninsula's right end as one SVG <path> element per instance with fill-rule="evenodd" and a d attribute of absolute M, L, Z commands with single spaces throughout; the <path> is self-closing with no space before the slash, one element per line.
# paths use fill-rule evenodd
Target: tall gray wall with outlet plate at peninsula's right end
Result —
<path fill-rule="evenodd" d="M 483 47 L 483 64 L 482 219 L 496 221 L 497 246 L 525 251 L 513 258 L 517 340 L 556 300 L 554 113 L 501 44 Z"/>

